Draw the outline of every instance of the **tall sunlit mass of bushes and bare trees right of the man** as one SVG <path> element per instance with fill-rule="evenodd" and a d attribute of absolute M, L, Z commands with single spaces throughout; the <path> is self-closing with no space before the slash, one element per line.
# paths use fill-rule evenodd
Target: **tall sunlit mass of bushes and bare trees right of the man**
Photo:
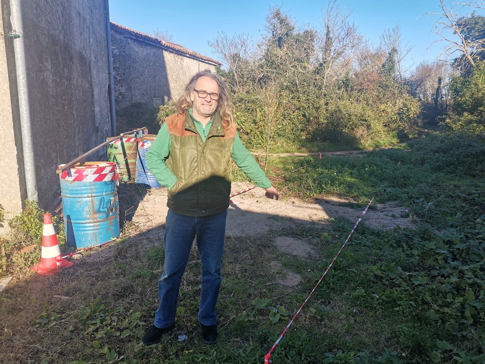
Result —
<path fill-rule="evenodd" d="M 361 54 L 353 62 L 330 30 L 297 30 L 279 8 L 266 20 L 258 50 L 244 49 L 247 42 L 240 37 L 222 36 L 213 43 L 226 59 L 227 70 L 219 73 L 230 86 L 236 123 L 249 148 L 294 150 L 313 144 L 352 149 L 415 134 L 420 104 L 397 81 L 396 49 L 359 44 Z"/>

